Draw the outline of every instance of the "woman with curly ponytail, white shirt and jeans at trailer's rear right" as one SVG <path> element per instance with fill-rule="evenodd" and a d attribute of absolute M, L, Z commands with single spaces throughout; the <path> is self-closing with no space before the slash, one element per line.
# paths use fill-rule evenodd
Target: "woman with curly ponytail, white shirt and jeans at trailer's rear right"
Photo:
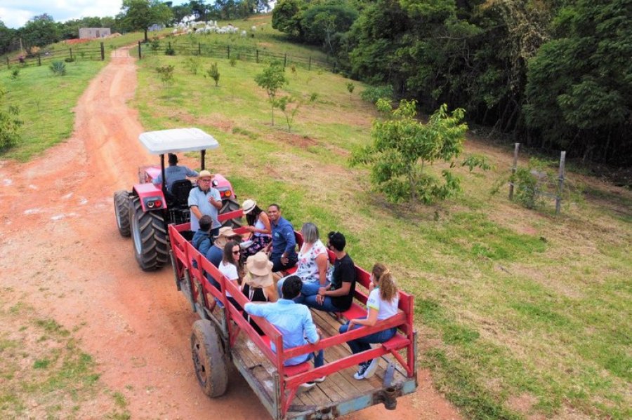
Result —
<path fill-rule="evenodd" d="M 358 325 L 372 327 L 380 320 L 385 320 L 397 314 L 397 304 L 400 296 L 397 292 L 395 280 L 384 264 L 376 263 L 371 270 L 371 284 L 369 285 L 369 299 L 367 300 L 367 317 L 350 320 L 339 329 L 341 334 L 357 328 Z M 371 344 L 383 343 L 390 340 L 397 332 L 397 328 L 374 332 L 355 340 L 347 341 L 353 354 L 371 348 Z M 353 375 L 355 379 L 365 379 L 373 376 L 378 366 L 379 358 L 360 363 L 360 368 Z"/>

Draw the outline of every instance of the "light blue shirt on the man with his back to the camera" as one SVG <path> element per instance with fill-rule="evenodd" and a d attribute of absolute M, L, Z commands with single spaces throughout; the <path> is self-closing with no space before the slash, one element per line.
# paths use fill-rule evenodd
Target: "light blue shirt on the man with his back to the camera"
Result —
<path fill-rule="evenodd" d="M 283 336 L 283 348 L 294 348 L 319 339 L 316 325 L 312 321 L 310 309 L 289 299 L 279 299 L 273 304 L 253 304 L 248 302 L 244 310 L 254 316 L 261 316 L 275 327 Z M 305 339 L 307 337 L 307 339 Z M 270 343 L 276 352 L 275 344 Z M 284 366 L 300 365 L 310 358 L 310 353 L 297 355 L 283 363 Z"/>

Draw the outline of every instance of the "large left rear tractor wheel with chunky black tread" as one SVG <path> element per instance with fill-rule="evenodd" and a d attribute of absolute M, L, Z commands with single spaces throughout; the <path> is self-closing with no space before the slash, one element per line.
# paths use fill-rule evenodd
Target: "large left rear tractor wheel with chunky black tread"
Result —
<path fill-rule="evenodd" d="M 159 211 L 143 211 L 140 198 L 136 196 L 130 201 L 131 235 L 136 262 L 143 271 L 160 269 L 169 261 L 164 217 Z"/>

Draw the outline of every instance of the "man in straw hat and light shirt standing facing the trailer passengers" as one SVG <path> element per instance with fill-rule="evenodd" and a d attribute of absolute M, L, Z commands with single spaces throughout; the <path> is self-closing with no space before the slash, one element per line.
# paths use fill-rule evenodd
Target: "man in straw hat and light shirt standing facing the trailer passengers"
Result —
<path fill-rule="evenodd" d="M 218 210 L 222 208 L 222 198 L 219 191 L 211 185 L 212 180 L 213 175 L 208 170 L 199 172 L 197 187 L 191 189 L 188 203 L 191 209 L 191 230 L 197 232 L 199 219 L 202 219 L 204 215 L 208 215 L 213 219 L 211 238 L 216 238 L 221 226 L 217 215 Z"/>

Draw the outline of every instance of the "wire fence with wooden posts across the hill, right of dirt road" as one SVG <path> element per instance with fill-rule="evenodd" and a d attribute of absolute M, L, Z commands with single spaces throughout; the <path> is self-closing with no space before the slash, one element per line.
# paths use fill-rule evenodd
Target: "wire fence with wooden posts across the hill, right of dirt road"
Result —
<path fill-rule="evenodd" d="M 245 60 L 254 62 L 265 62 L 276 60 L 282 62 L 284 67 L 295 65 L 305 69 L 322 69 L 328 72 L 336 73 L 338 71 L 338 63 L 335 61 L 317 60 L 313 57 L 303 57 L 300 55 L 289 55 L 288 53 L 273 53 L 268 50 L 260 50 L 258 48 L 244 46 L 230 46 L 205 43 L 187 43 L 160 41 L 153 43 L 138 42 L 138 57 L 143 55 L 166 54 L 169 51 L 173 55 L 198 55 L 200 57 L 216 57 L 235 60 Z"/>

